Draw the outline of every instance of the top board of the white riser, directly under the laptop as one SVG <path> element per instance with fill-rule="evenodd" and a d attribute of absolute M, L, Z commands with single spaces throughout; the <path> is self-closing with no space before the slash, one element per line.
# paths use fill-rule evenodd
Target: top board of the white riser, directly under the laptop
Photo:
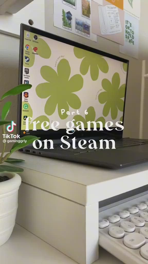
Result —
<path fill-rule="evenodd" d="M 147 185 L 148 162 L 113 170 L 16 152 L 22 181 L 82 205 Z"/>

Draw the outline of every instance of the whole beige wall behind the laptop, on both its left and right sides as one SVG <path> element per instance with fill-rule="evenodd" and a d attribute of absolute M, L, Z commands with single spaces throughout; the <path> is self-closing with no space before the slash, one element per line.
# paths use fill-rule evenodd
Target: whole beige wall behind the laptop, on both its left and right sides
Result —
<path fill-rule="evenodd" d="M 97 37 L 97 43 L 87 40 L 83 37 L 71 34 L 64 30 L 53 27 L 53 0 L 45 0 L 45 30 L 53 34 L 66 37 L 79 43 L 92 46 L 96 49 L 112 53 L 114 55 L 130 60 L 129 78 L 127 85 L 126 109 L 125 109 L 125 130 L 124 136 L 139 138 L 139 121 L 140 121 L 140 96 L 141 96 L 141 67 L 142 59 L 148 59 L 148 34 L 147 34 L 147 10 L 148 1 L 141 0 L 141 20 L 140 20 L 140 58 L 139 60 L 130 58 L 119 53 L 119 45 Z M 18 84 L 18 61 L 19 61 L 19 39 L 8 35 L 0 34 L 0 94 Z M 148 73 L 148 65 L 147 65 Z M 146 81 L 148 82 L 148 81 Z M 145 92 L 145 98 L 148 98 L 148 89 Z M 12 100 L 11 113 L 9 119 L 17 119 L 17 97 L 9 98 Z M 144 113 L 144 131 L 147 131 L 147 110 L 148 104 L 145 99 Z M 147 133 L 144 133 L 148 138 Z M 11 144 L 7 146 L 7 149 Z M 2 140 L 0 140 L 0 152 L 2 150 Z"/>

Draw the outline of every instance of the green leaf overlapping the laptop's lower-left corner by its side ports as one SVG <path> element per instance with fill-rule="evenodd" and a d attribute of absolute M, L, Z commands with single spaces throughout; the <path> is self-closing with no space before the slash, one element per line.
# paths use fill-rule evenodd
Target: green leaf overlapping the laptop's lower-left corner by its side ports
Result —
<path fill-rule="evenodd" d="M 23 143 L 16 142 L 13 145 L 12 149 L 10 150 L 10 153 L 12 154 L 14 151 L 16 151 L 16 150 L 18 150 L 20 148 L 26 147 L 27 145 L 33 143 L 33 141 L 36 140 L 36 139 L 40 139 L 40 138 L 37 138 L 37 136 L 23 136 L 21 138 L 21 140 L 27 140 L 27 141 L 26 142 L 23 142 Z"/>

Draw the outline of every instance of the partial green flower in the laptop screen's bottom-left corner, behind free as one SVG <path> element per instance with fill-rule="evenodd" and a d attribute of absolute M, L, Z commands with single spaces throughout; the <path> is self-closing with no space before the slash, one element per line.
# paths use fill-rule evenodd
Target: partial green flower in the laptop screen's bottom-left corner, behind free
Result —
<path fill-rule="evenodd" d="M 23 106 L 26 104 L 26 102 L 23 102 L 23 104 L 22 104 L 22 109 L 23 109 Z M 33 116 L 33 111 L 32 111 L 32 108 L 31 108 L 31 106 L 30 106 L 30 104 L 27 102 L 27 105 L 28 105 L 28 108 L 27 108 L 27 112 L 23 112 L 23 114 L 22 114 L 22 127 L 21 127 L 21 129 L 22 130 L 25 130 L 26 129 L 26 124 L 25 124 L 25 120 L 24 120 L 24 116 L 25 116 L 25 114 L 27 115 L 27 116 L 29 116 L 29 117 L 31 117 L 32 118 L 32 116 Z M 41 128 L 41 124 L 42 124 L 42 122 L 44 122 L 44 121 L 47 121 L 47 122 L 49 122 L 50 123 L 50 121 L 49 121 L 49 118 L 47 117 L 47 116 L 45 116 L 45 115 L 42 115 L 42 116 L 38 116 L 36 119 L 34 119 L 34 120 L 30 120 L 29 119 L 29 130 L 32 130 L 33 129 L 33 121 L 40 121 L 40 123 L 38 123 L 37 125 L 36 125 L 36 129 L 42 129 Z M 30 122 L 31 122 L 31 124 L 30 124 Z M 46 125 L 46 123 L 44 124 L 44 126 Z M 49 129 L 49 127 L 46 127 L 46 129 Z"/>

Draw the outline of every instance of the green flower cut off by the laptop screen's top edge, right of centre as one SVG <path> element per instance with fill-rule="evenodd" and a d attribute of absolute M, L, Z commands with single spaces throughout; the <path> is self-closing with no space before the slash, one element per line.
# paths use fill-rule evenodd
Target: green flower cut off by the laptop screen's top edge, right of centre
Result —
<path fill-rule="evenodd" d="M 76 47 L 74 47 L 74 54 L 78 59 L 83 58 L 80 65 L 81 74 L 86 75 L 90 67 L 90 75 L 93 81 L 98 79 L 99 69 L 103 73 L 108 72 L 109 67 L 103 56 Z"/>

